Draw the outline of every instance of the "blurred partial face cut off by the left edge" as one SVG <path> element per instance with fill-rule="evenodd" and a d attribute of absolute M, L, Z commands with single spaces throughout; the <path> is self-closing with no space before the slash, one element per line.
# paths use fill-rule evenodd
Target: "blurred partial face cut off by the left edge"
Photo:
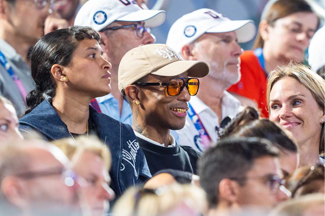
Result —
<path fill-rule="evenodd" d="M 0 140 L 22 138 L 18 130 L 18 117 L 15 108 L 0 102 Z"/>

